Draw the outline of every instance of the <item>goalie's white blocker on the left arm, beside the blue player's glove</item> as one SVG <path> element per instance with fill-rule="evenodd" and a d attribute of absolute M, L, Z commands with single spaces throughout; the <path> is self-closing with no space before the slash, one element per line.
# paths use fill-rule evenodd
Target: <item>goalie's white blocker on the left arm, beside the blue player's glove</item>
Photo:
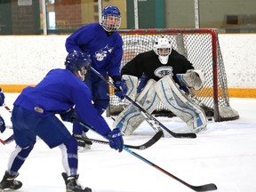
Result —
<path fill-rule="evenodd" d="M 135 100 L 137 95 L 138 77 L 123 75 L 122 79 L 125 80 L 125 84 L 128 88 L 126 95 L 130 97 L 132 100 Z"/>

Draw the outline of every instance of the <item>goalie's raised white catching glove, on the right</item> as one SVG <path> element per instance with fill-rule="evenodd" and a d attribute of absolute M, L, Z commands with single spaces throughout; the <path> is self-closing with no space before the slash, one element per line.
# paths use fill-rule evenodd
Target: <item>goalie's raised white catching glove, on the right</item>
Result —
<path fill-rule="evenodd" d="M 201 70 L 188 70 L 186 74 L 177 74 L 180 84 L 193 87 L 196 91 L 200 90 L 204 85 L 204 73 Z"/>

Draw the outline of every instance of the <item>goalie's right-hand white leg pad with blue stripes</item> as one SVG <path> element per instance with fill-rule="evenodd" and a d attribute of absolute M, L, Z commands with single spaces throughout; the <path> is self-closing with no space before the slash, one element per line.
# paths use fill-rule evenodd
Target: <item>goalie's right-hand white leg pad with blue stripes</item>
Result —
<path fill-rule="evenodd" d="M 207 124 L 204 110 L 180 91 L 178 84 L 175 84 L 172 76 L 164 76 L 155 84 L 159 98 L 167 108 L 176 116 L 188 124 L 192 132 L 198 132 Z"/>

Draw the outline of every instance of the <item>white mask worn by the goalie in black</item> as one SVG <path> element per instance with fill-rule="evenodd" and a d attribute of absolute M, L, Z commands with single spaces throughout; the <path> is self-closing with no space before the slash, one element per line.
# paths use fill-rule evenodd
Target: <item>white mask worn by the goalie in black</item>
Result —
<path fill-rule="evenodd" d="M 165 65 L 172 52 L 172 44 L 167 38 L 161 37 L 154 43 L 153 50 L 156 52 L 156 55 L 158 55 L 160 62 Z"/>

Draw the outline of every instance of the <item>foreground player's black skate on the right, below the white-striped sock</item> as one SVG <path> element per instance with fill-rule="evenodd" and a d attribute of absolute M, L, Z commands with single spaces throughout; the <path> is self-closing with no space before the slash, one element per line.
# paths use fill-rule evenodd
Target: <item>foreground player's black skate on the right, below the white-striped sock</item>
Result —
<path fill-rule="evenodd" d="M 76 175 L 76 177 L 68 177 L 66 172 L 62 172 L 61 175 L 65 180 L 66 192 L 92 192 L 91 188 L 82 188 L 77 184 L 78 175 Z"/>

